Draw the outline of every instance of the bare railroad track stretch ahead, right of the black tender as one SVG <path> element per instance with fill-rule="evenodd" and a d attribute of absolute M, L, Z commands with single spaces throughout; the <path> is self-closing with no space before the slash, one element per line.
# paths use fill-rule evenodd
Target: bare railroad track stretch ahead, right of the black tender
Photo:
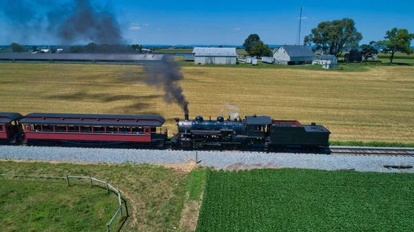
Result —
<path fill-rule="evenodd" d="M 414 148 L 331 148 L 331 155 L 412 156 Z"/>

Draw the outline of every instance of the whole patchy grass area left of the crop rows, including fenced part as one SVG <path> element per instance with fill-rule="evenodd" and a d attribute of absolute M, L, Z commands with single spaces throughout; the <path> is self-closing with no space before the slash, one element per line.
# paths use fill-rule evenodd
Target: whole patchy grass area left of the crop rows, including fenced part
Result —
<path fill-rule="evenodd" d="M 192 215 L 199 210 L 204 182 L 198 176 L 203 171 L 188 173 L 184 164 L 173 167 L 0 160 L 1 174 L 83 175 L 108 181 L 128 206 L 130 217 L 121 231 L 190 231 L 197 223 Z M 68 187 L 64 179 L 0 177 L 0 231 L 106 231 L 118 204 L 117 195 L 88 183 Z"/>

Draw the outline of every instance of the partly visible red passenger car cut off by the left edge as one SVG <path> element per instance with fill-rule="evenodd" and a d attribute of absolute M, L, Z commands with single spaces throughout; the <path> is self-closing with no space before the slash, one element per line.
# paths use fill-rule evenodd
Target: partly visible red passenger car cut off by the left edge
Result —
<path fill-rule="evenodd" d="M 0 112 L 0 142 L 16 142 L 21 133 L 19 119 L 22 117 L 19 113 Z"/>

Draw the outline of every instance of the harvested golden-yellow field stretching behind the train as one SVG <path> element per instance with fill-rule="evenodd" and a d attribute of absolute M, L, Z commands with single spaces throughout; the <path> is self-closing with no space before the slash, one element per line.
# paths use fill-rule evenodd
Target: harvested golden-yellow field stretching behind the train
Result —
<path fill-rule="evenodd" d="M 231 112 L 326 126 L 333 140 L 414 142 L 414 67 L 365 72 L 296 68 L 182 68 L 190 117 Z M 141 66 L 0 64 L 0 111 L 157 114 L 184 117 L 162 90 L 144 84 Z M 228 117 L 228 115 L 224 115 Z M 170 135 L 172 134 L 170 133 Z"/>

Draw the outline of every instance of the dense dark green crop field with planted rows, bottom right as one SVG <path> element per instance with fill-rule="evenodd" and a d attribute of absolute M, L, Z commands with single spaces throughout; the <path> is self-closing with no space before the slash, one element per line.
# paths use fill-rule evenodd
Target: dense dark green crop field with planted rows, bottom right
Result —
<path fill-rule="evenodd" d="M 197 231 L 412 231 L 413 177 L 208 170 Z"/>

